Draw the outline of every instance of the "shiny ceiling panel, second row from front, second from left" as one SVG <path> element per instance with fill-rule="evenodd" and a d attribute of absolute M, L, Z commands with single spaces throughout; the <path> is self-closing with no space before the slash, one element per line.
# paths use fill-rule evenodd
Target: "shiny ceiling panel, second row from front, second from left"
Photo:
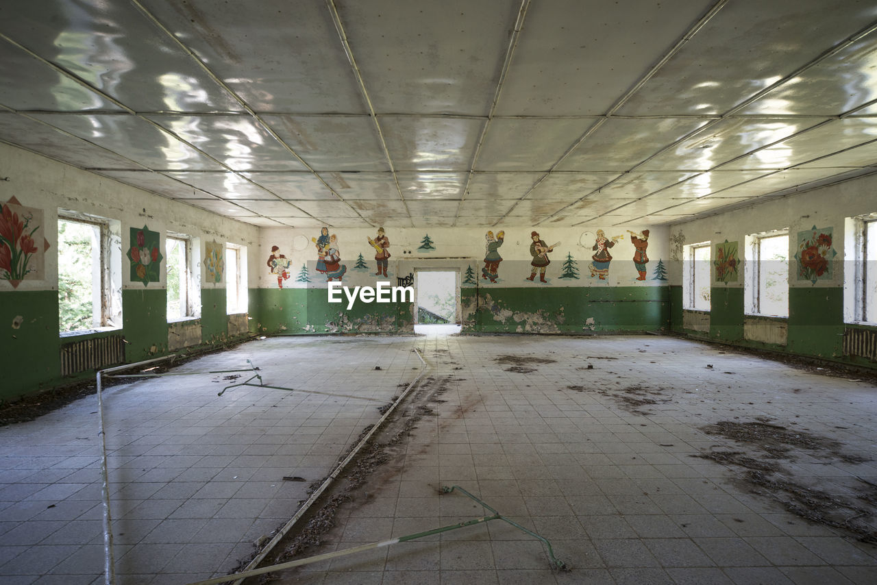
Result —
<path fill-rule="evenodd" d="M 143 118 L 129 114 L 33 114 L 48 125 L 155 170 L 219 170 L 221 165 Z"/>

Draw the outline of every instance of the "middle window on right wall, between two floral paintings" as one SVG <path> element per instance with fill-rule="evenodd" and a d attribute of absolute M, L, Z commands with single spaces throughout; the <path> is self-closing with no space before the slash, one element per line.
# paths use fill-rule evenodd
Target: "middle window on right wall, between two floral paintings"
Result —
<path fill-rule="evenodd" d="M 745 313 L 788 317 L 788 232 L 746 236 Z"/>

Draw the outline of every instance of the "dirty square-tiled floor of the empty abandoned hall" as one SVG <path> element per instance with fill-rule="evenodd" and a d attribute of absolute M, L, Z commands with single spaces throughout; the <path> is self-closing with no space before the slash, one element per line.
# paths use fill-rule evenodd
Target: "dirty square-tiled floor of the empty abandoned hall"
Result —
<path fill-rule="evenodd" d="M 251 359 L 267 384 L 322 394 L 241 387 L 217 396 L 233 383 L 225 374 L 108 389 L 118 582 L 183 583 L 235 567 L 304 499 L 308 483 L 282 477 L 323 478 L 381 416 L 375 407 L 417 375 L 415 346 L 429 364 L 423 388 L 446 388 L 430 403 L 435 416 L 339 510 L 313 553 L 482 516 L 465 496 L 439 495 L 456 484 L 549 539 L 571 570 L 553 572 L 538 540 L 492 521 L 295 569 L 283 581 L 877 582 L 877 546 L 789 513 L 787 492 L 753 493 L 743 467 L 695 457 L 745 452 L 776 466 L 770 480 L 864 507 L 877 463 L 849 456 L 877 459 L 870 384 L 657 336 L 436 334 L 264 339 L 175 370 Z M 497 360 L 504 355 L 521 363 Z M 95 412 L 92 397 L 0 429 L 4 583 L 103 581 Z M 704 432 L 720 421 L 784 426 L 839 446 L 770 459 Z"/>

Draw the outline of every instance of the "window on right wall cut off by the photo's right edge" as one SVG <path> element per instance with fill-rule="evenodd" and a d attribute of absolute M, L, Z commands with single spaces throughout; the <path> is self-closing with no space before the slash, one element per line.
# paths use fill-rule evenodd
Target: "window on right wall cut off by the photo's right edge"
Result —
<path fill-rule="evenodd" d="M 846 218 L 844 320 L 877 323 L 877 213 Z"/>

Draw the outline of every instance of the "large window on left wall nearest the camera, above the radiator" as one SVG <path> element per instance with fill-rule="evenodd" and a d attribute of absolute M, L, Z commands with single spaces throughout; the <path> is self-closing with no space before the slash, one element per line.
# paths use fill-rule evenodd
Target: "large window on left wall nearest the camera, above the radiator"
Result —
<path fill-rule="evenodd" d="M 61 334 L 122 326 L 121 223 L 58 213 L 58 321 Z"/>

